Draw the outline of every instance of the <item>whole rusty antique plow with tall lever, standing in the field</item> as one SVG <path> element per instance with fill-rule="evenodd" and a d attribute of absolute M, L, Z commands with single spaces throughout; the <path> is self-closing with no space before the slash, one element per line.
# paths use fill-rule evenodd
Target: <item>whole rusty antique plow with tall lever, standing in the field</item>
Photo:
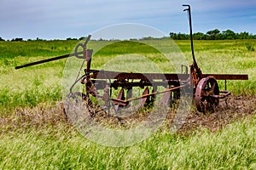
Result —
<path fill-rule="evenodd" d="M 192 65 L 189 65 L 189 67 L 182 65 L 182 70 L 185 68 L 184 72 L 161 74 L 92 70 L 90 65 L 93 50 L 86 48 L 87 43 L 90 41 L 90 35 L 86 38 L 84 43 L 79 43 L 76 46 L 73 54 L 66 54 L 26 65 L 20 65 L 15 67 L 15 69 L 72 56 L 83 59 L 84 63 L 87 63 L 86 68 L 84 69 L 84 75 L 78 77 L 70 87 L 68 98 L 83 99 L 88 108 L 95 107 L 95 104 L 92 101 L 93 98 L 101 99 L 104 103 L 104 110 L 108 111 L 109 108 L 112 107 L 118 118 L 119 109 L 128 107 L 131 101 L 137 100 L 137 103 L 142 108 L 144 105 L 154 103 L 156 95 L 161 94 L 161 103 L 163 105 L 171 105 L 173 101 L 180 98 L 181 92 L 186 92 L 187 89 L 190 89 L 193 93 L 193 98 L 195 99 L 195 105 L 198 111 L 203 113 L 206 111 L 213 111 L 214 107 L 218 105 L 219 99 L 224 99 L 230 95 L 230 91 L 226 90 L 226 81 L 247 80 L 248 76 L 235 74 L 203 74 L 201 72 L 201 69 L 195 60 L 190 6 L 183 6 L 187 7 L 184 11 L 188 11 L 189 13 L 189 30 L 193 57 Z M 82 50 L 79 51 L 79 49 Z M 218 88 L 217 80 L 225 81 L 225 90 L 220 90 Z M 73 92 L 73 87 L 78 82 L 83 84 L 84 89 L 82 91 Z M 143 88 L 143 93 L 137 97 L 132 97 L 132 90 L 136 87 Z M 165 89 L 158 90 L 159 87 L 164 87 Z M 113 98 L 112 96 L 113 89 L 119 90 L 116 98 Z M 101 90 L 101 93 L 98 92 L 99 90 Z M 93 116 L 94 114 L 95 111 L 90 112 L 90 116 Z"/>

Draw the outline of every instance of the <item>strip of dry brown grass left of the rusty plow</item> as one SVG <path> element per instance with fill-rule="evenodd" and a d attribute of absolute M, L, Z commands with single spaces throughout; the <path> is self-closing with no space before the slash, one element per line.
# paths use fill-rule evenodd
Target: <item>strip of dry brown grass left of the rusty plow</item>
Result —
<path fill-rule="evenodd" d="M 67 117 L 61 102 L 56 105 L 40 104 L 33 108 L 16 108 L 13 114 L 0 117 L 2 133 L 29 127 L 59 127 L 64 123 L 67 124 Z"/>

